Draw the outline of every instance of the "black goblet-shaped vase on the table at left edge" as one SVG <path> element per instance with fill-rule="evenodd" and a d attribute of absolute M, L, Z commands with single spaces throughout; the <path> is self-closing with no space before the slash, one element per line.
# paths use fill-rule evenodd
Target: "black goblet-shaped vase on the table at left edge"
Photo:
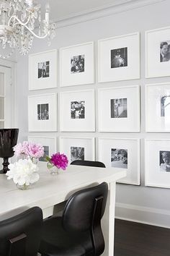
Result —
<path fill-rule="evenodd" d="M 13 147 L 17 145 L 19 129 L 0 129 L 0 158 L 4 158 L 2 165 L 4 168 L 0 174 L 6 174 L 9 171 L 8 158 L 14 155 Z"/>

